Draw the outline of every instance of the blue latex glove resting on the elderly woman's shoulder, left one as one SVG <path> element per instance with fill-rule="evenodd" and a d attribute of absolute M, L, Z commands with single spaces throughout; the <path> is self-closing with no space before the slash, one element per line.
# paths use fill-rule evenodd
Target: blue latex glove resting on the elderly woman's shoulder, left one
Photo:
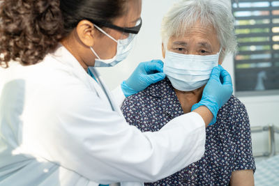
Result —
<path fill-rule="evenodd" d="M 122 91 L 126 97 L 143 91 L 147 86 L 165 79 L 163 73 L 163 62 L 152 60 L 142 62 L 137 66 L 132 75 L 121 84 Z"/>

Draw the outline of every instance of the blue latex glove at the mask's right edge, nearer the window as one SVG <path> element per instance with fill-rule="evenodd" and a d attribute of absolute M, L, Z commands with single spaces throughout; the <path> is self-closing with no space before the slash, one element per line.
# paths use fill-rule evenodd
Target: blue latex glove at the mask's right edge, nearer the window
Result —
<path fill-rule="evenodd" d="M 232 95 L 232 78 L 229 72 L 221 65 L 214 67 L 211 72 L 209 82 L 204 87 L 202 100 L 192 107 L 192 111 L 202 105 L 209 108 L 213 114 L 213 119 L 209 125 L 216 123 L 217 112 Z"/>

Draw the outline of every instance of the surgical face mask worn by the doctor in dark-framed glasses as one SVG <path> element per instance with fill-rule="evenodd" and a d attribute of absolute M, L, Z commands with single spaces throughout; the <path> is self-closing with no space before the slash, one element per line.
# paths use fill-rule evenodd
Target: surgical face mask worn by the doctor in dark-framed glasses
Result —
<path fill-rule="evenodd" d="M 96 26 L 96 25 L 95 25 Z M 94 51 L 92 47 L 90 47 L 91 51 L 97 56 L 98 59 L 95 59 L 95 65 L 94 67 L 111 67 L 119 63 L 120 61 L 123 61 L 127 58 L 128 54 L 130 53 L 130 50 L 133 48 L 135 36 L 136 34 L 128 33 L 128 38 L 125 38 L 123 40 L 116 40 L 112 38 L 109 34 L 107 34 L 103 29 L 100 29 L 100 27 L 96 26 L 96 28 L 104 33 L 107 37 L 111 38 L 115 42 L 117 42 L 117 48 L 116 48 L 116 55 L 112 59 L 100 59 L 98 54 Z"/>

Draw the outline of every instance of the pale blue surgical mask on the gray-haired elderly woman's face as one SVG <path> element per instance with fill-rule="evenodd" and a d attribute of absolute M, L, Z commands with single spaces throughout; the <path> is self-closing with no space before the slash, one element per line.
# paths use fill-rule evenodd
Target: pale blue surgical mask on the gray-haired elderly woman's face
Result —
<path fill-rule="evenodd" d="M 199 56 L 167 51 L 163 71 L 174 88 L 193 91 L 209 81 L 213 67 L 218 66 L 219 54 Z"/>

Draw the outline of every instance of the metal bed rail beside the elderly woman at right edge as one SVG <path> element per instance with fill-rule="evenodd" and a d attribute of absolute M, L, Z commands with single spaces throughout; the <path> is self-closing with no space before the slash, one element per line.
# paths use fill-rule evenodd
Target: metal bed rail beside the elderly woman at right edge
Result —
<path fill-rule="evenodd" d="M 268 132 L 269 134 L 269 150 L 263 153 L 254 153 L 254 157 L 271 157 L 276 155 L 275 134 L 279 134 L 279 127 L 275 125 L 251 127 L 252 133 Z"/>

